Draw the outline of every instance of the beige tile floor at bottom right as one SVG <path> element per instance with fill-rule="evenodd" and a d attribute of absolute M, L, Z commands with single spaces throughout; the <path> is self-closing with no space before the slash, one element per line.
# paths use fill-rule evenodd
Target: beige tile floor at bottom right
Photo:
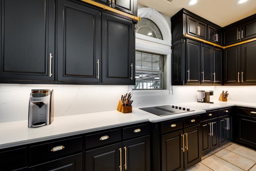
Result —
<path fill-rule="evenodd" d="M 186 171 L 256 171 L 256 150 L 230 142 L 202 156 Z"/>

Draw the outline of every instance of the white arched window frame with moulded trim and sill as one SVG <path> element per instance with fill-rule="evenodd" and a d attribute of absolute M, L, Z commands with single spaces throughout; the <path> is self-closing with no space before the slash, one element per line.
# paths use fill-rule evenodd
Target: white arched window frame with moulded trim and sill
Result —
<path fill-rule="evenodd" d="M 166 89 L 152 90 L 133 90 L 133 86 L 128 87 L 128 91 L 133 96 L 145 95 L 170 95 L 172 94 L 171 86 L 171 30 L 165 18 L 153 8 L 138 9 L 138 16 L 152 20 L 162 33 L 163 40 L 152 38 L 150 36 L 135 34 L 135 49 L 142 52 L 166 55 Z"/>

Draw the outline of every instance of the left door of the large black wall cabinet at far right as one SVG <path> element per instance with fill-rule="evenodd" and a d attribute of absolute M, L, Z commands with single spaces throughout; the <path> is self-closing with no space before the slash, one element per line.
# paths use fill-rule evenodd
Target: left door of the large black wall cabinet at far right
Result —
<path fill-rule="evenodd" d="M 240 50 L 240 46 L 224 50 L 224 84 L 240 84 Z"/>

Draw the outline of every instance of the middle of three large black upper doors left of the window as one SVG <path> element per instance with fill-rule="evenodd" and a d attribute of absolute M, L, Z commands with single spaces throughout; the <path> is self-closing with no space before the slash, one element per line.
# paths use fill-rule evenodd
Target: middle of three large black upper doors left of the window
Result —
<path fill-rule="evenodd" d="M 57 81 L 100 82 L 100 11 L 68 0 L 57 11 Z"/>

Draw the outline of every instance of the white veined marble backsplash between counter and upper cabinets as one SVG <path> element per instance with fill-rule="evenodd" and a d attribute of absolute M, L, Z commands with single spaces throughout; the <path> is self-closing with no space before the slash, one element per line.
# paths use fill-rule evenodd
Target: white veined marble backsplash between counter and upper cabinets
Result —
<path fill-rule="evenodd" d="M 28 119 L 31 89 L 54 89 L 54 116 L 77 115 L 116 110 L 127 85 L 43 85 L 0 84 L 0 122 Z M 222 90 L 228 100 L 256 103 L 256 86 L 173 86 L 172 95 L 132 97 L 133 107 L 146 107 L 196 101 L 197 90 L 214 90 L 211 100 L 218 100 Z"/>

